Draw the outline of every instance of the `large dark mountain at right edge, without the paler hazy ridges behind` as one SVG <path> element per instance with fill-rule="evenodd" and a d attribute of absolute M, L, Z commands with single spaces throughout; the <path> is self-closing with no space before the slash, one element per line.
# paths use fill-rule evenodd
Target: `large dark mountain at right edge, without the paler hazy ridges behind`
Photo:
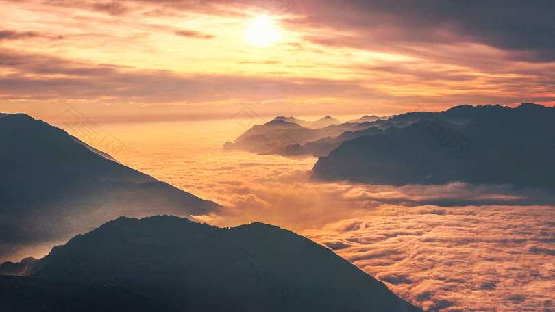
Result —
<path fill-rule="evenodd" d="M 313 178 L 386 185 L 465 181 L 554 187 L 555 108 L 463 105 L 391 119 L 406 122 L 417 116 L 432 119 L 343 142 L 318 159 Z"/>

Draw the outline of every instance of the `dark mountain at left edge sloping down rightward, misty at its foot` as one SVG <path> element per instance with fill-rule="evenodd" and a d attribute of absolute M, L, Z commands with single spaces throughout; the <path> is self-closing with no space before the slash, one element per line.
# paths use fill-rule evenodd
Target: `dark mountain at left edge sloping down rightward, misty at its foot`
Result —
<path fill-rule="evenodd" d="M 25 114 L 0 118 L 0 146 L 0 261 L 10 246 L 66 241 L 119 216 L 237 216 Z"/>

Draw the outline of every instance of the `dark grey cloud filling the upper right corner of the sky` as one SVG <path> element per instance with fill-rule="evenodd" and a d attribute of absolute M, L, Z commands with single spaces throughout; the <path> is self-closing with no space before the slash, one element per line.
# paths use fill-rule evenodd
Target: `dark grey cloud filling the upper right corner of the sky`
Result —
<path fill-rule="evenodd" d="M 317 3 L 316 3 L 317 2 Z M 330 40 L 331 44 L 366 48 L 370 44 L 412 42 L 455 44 L 474 42 L 513 53 L 531 62 L 554 61 L 555 42 L 545 40 L 555 31 L 550 23 L 554 3 L 536 1 L 473 2 L 456 12 L 452 2 L 428 1 L 304 1 L 310 25 L 343 29 L 358 40 Z M 523 14 L 526 12 L 526 14 Z M 360 40 L 365 38 L 366 40 Z M 445 55 L 449 57 L 449 55 Z"/>

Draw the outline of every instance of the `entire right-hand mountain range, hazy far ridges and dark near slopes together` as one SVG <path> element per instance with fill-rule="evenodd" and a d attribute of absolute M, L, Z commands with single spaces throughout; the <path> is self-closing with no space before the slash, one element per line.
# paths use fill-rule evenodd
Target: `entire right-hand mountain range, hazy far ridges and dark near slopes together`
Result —
<path fill-rule="evenodd" d="M 319 129 L 280 122 L 254 126 L 224 149 L 319 157 L 312 178 L 326 181 L 555 187 L 554 107 L 460 105 Z"/>

